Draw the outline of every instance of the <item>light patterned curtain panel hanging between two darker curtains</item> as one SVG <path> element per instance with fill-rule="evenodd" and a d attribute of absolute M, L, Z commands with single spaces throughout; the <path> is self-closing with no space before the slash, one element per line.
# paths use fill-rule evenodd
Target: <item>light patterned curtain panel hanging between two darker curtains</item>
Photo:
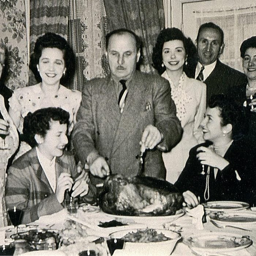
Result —
<path fill-rule="evenodd" d="M 103 0 L 69 0 L 68 41 L 76 54 L 74 89 L 81 91 L 85 80 L 106 75 L 106 31 Z"/>

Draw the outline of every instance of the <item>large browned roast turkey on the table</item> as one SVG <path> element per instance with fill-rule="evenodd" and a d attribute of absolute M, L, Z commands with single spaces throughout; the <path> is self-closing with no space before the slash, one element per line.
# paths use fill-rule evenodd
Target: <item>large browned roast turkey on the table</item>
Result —
<path fill-rule="evenodd" d="M 182 194 L 173 184 L 146 176 L 109 176 L 99 195 L 101 209 L 115 215 L 174 215 L 182 202 Z"/>

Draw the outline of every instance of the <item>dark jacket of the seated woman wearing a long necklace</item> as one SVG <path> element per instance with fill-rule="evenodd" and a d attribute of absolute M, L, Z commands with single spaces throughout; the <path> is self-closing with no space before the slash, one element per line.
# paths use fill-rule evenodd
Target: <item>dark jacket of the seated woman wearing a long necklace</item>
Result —
<path fill-rule="evenodd" d="M 175 185 L 181 192 L 191 191 L 200 196 L 204 202 L 204 190 L 206 188 L 207 167 L 196 158 L 196 149 L 200 146 L 208 147 L 210 143 L 203 143 L 193 147 L 189 152 L 188 161 Z M 218 170 L 216 179 L 214 169 L 210 170 L 210 199 L 209 201 L 233 200 L 248 202 L 251 205 L 256 203 L 255 186 L 255 160 L 251 147 L 244 140 L 234 141 L 227 150 L 224 158 L 229 162 L 222 171 Z M 237 174 L 241 180 L 237 178 Z"/>

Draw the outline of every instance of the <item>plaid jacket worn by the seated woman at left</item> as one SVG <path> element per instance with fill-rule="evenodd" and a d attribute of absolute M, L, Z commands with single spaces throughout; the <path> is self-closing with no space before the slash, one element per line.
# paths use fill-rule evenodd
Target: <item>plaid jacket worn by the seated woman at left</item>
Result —
<path fill-rule="evenodd" d="M 63 172 L 72 177 L 77 174 L 74 157 L 65 151 L 56 158 L 55 169 L 56 181 Z M 16 206 L 24 211 L 24 224 L 63 209 L 38 161 L 35 148 L 19 157 L 8 169 L 5 203 L 7 208 Z"/>

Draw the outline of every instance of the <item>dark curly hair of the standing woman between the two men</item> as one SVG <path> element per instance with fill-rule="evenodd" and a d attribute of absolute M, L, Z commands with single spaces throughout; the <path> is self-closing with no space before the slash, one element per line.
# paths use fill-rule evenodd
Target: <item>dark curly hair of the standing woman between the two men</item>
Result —
<path fill-rule="evenodd" d="M 163 44 L 168 41 L 172 40 L 180 40 L 183 42 L 185 52 L 187 54 L 187 65 L 184 65 L 183 69 L 187 73 L 187 70 L 190 69 L 191 66 L 197 63 L 196 57 L 196 46 L 193 44 L 190 38 L 185 37 L 185 35 L 181 32 L 181 30 L 177 29 L 176 27 L 167 28 L 161 30 L 160 34 L 157 37 L 157 42 L 153 48 L 152 54 L 152 61 L 153 67 L 157 69 L 158 73 L 161 75 L 165 70 L 166 67 L 162 67 L 163 57 L 162 57 L 162 50 Z"/>

